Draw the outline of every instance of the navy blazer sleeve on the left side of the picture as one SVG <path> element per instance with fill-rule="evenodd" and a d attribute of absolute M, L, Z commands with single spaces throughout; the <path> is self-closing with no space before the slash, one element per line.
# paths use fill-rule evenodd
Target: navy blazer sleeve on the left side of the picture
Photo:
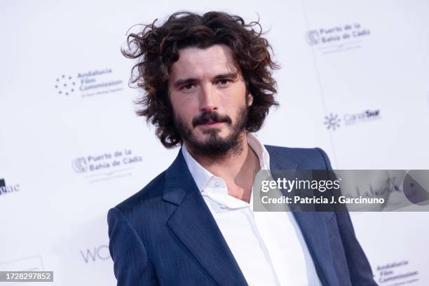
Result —
<path fill-rule="evenodd" d="M 142 240 L 125 214 L 113 207 L 107 214 L 109 251 L 118 286 L 158 285 Z"/>

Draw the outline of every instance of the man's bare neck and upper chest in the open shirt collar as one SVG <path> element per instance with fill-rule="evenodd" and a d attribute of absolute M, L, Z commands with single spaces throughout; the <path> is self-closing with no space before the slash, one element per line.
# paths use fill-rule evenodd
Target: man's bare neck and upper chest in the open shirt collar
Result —
<path fill-rule="evenodd" d="M 240 140 L 240 151 L 231 151 L 219 158 L 207 158 L 193 154 L 192 150 L 188 150 L 203 168 L 224 179 L 230 196 L 248 203 L 254 176 L 260 170 L 260 163 L 257 154 L 247 144 L 245 133 L 240 137 Z"/>

